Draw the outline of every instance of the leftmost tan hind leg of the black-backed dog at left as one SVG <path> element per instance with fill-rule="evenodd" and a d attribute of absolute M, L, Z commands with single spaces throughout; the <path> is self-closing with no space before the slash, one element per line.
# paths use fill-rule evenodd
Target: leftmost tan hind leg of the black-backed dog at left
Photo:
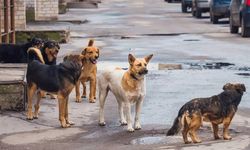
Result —
<path fill-rule="evenodd" d="M 31 84 L 28 86 L 28 109 L 27 109 L 27 119 L 33 119 L 33 112 L 32 112 L 32 98 L 35 94 L 37 86 L 35 84 Z"/>

